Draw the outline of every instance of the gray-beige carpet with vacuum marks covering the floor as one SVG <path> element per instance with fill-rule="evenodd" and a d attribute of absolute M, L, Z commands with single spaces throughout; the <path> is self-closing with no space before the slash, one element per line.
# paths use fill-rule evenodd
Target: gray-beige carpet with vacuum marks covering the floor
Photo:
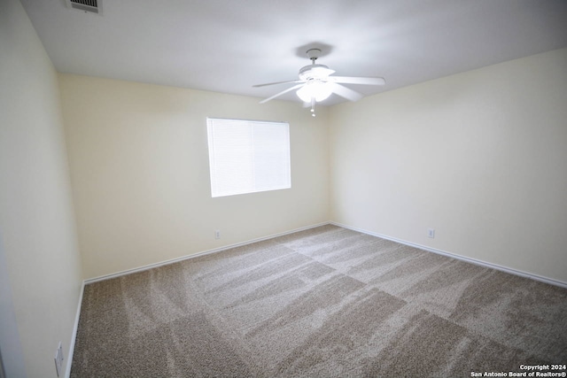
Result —
<path fill-rule="evenodd" d="M 87 285 L 71 376 L 470 377 L 566 331 L 567 289 L 328 225 Z"/>

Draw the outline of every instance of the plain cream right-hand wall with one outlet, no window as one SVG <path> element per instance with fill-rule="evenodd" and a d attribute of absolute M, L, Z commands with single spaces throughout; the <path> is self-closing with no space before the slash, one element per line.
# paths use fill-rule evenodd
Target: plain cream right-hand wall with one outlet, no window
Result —
<path fill-rule="evenodd" d="M 567 282 L 567 49 L 329 118 L 331 220 Z"/>

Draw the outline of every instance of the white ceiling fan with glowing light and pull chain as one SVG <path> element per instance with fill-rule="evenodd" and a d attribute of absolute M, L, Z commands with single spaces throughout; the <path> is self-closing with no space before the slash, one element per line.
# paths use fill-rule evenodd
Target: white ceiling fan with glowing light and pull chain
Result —
<path fill-rule="evenodd" d="M 291 90 L 298 89 L 297 95 L 304 104 L 311 105 L 312 115 L 315 117 L 315 103 L 328 98 L 332 93 L 344 97 L 350 101 L 357 101 L 362 95 L 353 89 L 346 88 L 341 84 L 363 84 L 363 85 L 384 85 L 385 80 L 381 77 L 350 77 L 350 76 L 331 76 L 335 73 L 328 66 L 317 65 L 315 60 L 321 56 L 320 49 L 307 50 L 307 57 L 311 59 L 311 65 L 304 66 L 299 70 L 299 80 L 276 81 L 267 84 L 258 84 L 253 87 L 266 87 L 268 85 L 298 83 L 291 88 L 285 89 L 274 96 L 260 101 L 260 104 L 267 103 L 269 100 L 282 96 Z"/>

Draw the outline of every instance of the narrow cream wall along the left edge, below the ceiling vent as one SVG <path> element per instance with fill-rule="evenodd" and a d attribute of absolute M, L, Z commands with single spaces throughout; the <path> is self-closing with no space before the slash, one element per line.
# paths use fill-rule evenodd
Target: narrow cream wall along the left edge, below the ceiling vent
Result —
<path fill-rule="evenodd" d="M 0 328 L 17 328 L 25 366 L 11 374 L 54 377 L 58 342 L 69 352 L 82 274 L 57 73 L 18 0 L 0 1 L 0 243 L 12 290 Z M 0 343 L 4 357 L 18 354 L 17 341 Z"/>

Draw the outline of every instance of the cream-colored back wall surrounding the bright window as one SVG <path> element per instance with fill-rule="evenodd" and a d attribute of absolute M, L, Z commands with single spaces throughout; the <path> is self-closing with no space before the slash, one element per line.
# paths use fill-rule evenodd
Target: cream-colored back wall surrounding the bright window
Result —
<path fill-rule="evenodd" d="M 313 118 L 297 103 L 68 74 L 59 83 L 85 278 L 329 220 L 324 108 Z M 212 198 L 207 116 L 288 121 L 291 189 Z"/>

